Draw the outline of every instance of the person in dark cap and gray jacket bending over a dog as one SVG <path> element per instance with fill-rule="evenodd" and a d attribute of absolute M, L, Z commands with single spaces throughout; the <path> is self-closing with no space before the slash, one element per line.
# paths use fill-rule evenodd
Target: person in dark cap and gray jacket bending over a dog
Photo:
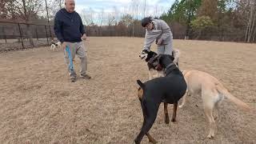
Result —
<path fill-rule="evenodd" d="M 143 50 L 150 51 L 150 46 L 156 40 L 158 54 L 170 54 L 173 51 L 173 34 L 170 27 L 161 19 L 146 17 L 142 19 L 142 27 L 146 29 Z"/>

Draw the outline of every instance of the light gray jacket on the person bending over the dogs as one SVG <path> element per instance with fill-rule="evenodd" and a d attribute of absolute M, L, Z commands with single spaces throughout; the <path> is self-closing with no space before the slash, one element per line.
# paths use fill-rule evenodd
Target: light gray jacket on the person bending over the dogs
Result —
<path fill-rule="evenodd" d="M 162 38 L 162 44 L 166 45 L 172 42 L 173 34 L 170 31 L 170 27 L 162 19 L 152 19 L 154 28 L 153 30 L 146 30 L 144 48 L 143 50 L 150 50 L 150 46 L 156 40 Z"/>

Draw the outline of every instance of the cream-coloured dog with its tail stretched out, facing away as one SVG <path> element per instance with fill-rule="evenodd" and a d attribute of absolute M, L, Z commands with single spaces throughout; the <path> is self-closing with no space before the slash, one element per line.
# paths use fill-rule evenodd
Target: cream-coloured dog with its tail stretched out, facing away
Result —
<path fill-rule="evenodd" d="M 250 110 L 250 107 L 246 103 L 230 94 L 222 83 L 212 75 L 198 70 L 183 70 L 182 74 L 186 80 L 187 91 L 182 98 L 182 105 L 178 107 L 182 108 L 185 105 L 187 94 L 201 94 L 202 106 L 206 114 L 206 118 L 208 122 L 210 122 L 208 138 L 214 137 L 214 129 L 216 127 L 213 110 L 214 108 L 218 108 L 225 97 L 231 102 L 234 102 L 237 106 L 241 107 L 243 110 Z"/>

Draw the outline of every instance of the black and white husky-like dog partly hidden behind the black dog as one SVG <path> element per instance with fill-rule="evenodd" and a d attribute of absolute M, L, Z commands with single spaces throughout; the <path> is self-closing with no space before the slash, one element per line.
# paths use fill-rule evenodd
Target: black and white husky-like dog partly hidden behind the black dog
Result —
<path fill-rule="evenodd" d="M 155 53 L 154 51 L 148 51 L 148 50 L 142 50 L 142 53 L 139 54 L 139 58 L 141 58 L 142 60 L 145 60 L 146 62 L 150 61 L 150 58 L 154 58 L 157 55 L 157 53 Z M 180 50 L 174 49 L 172 52 L 172 56 L 174 57 L 174 63 L 178 66 L 178 59 L 180 56 Z M 164 73 L 163 71 L 157 71 L 157 74 L 153 75 L 153 73 L 155 72 L 154 67 L 151 67 L 148 65 L 149 68 L 149 77 L 150 79 L 152 78 L 158 78 L 158 77 L 163 77 Z"/>

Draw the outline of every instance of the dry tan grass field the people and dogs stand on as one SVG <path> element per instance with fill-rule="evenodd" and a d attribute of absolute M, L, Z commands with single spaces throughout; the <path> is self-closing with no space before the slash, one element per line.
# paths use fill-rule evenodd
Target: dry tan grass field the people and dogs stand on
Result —
<path fill-rule="evenodd" d="M 138 58 L 143 40 L 89 38 L 85 43 L 92 78 L 74 83 L 62 50 L 53 52 L 48 46 L 1 53 L 0 143 L 133 143 L 143 121 L 136 80 L 149 79 L 146 62 Z M 212 74 L 251 111 L 225 99 L 216 136 L 209 139 L 202 98 L 193 95 L 178 109 L 177 122 L 169 125 L 161 104 L 150 134 L 166 144 L 256 143 L 256 45 L 174 40 L 174 48 L 181 51 L 181 70 Z M 75 58 L 77 74 L 79 63 Z M 173 106 L 168 108 L 171 116 Z M 148 143 L 146 136 L 142 143 Z"/>

